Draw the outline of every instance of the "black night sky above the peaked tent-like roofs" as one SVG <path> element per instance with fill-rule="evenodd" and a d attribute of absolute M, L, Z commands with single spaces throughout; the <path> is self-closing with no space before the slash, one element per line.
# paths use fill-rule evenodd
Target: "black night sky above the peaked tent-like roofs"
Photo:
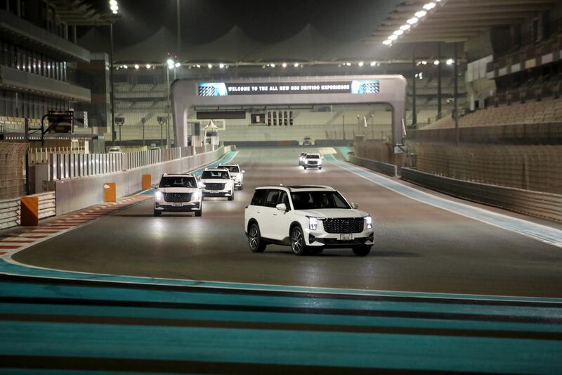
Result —
<path fill-rule="evenodd" d="M 117 0 L 116 42 L 128 46 L 166 26 L 176 33 L 176 0 Z M 98 7 L 108 1 L 96 0 Z M 307 24 L 326 37 L 346 42 L 361 39 L 386 18 L 400 0 L 180 0 L 182 40 L 211 42 L 235 25 L 259 42 L 292 37 Z"/>

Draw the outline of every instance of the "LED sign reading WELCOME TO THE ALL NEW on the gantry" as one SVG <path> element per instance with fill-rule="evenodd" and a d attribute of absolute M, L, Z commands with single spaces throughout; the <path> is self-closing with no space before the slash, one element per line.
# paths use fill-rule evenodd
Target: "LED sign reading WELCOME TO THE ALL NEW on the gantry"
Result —
<path fill-rule="evenodd" d="M 271 95 L 271 94 L 377 94 L 379 80 L 350 82 L 283 82 L 283 83 L 200 83 L 199 96 Z"/>

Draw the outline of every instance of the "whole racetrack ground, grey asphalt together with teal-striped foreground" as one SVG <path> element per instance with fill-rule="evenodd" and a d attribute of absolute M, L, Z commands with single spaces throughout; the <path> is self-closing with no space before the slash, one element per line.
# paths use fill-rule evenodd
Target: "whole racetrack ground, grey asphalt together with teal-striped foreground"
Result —
<path fill-rule="evenodd" d="M 246 170 L 244 190 L 206 199 L 202 217 L 154 217 L 147 191 L 6 249 L 0 372 L 562 372 L 559 226 L 421 191 L 330 149 L 322 170 L 303 170 L 301 151 L 317 149 L 226 155 Z M 280 183 L 358 203 L 374 217 L 370 255 L 251 253 L 244 208 L 256 186 Z"/>

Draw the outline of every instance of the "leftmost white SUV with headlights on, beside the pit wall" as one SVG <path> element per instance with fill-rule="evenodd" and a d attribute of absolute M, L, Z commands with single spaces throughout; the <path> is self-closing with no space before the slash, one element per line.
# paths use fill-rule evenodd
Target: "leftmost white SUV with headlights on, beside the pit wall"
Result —
<path fill-rule="evenodd" d="M 165 211 L 203 213 L 202 191 L 192 174 L 162 174 L 154 195 L 154 215 Z"/>

